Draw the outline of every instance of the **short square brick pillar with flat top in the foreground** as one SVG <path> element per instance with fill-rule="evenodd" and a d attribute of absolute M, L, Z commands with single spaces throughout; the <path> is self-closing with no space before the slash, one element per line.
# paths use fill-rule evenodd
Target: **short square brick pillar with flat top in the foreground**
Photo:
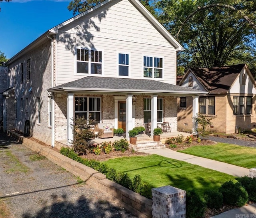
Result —
<path fill-rule="evenodd" d="M 152 218 L 185 218 L 186 191 L 172 186 L 152 189 Z"/>

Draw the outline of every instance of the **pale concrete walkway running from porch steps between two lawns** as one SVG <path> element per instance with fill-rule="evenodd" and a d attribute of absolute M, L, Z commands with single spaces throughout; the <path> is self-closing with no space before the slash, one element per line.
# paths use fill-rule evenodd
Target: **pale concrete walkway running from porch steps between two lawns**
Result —
<path fill-rule="evenodd" d="M 156 154 L 163 157 L 176 159 L 179 161 L 185 161 L 185 162 L 203 166 L 205 168 L 209 168 L 212 170 L 217 170 L 219 172 L 224 172 L 226 174 L 230 174 L 233 176 L 239 176 L 239 177 L 244 175 L 249 176 L 249 169 L 247 168 L 223 163 L 220 161 L 214 161 L 214 160 L 210 160 L 203 157 L 196 157 L 194 155 L 187 155 L 177 151 L 172 151 L 171 149 L 148 149 L 148 150 L 142 150 L 139 152 L 147 153 L 147 154 Z"/>

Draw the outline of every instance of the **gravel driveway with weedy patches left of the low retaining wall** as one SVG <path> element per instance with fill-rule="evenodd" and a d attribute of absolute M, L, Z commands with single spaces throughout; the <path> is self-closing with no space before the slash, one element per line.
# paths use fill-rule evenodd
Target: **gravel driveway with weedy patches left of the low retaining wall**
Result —
<path fill-rule="evenodd" d="M 135 218 L 48 159 L 31 157 L 34 151 L 0 132 L 0 205 L 9 208 L 6 218 Z"/>

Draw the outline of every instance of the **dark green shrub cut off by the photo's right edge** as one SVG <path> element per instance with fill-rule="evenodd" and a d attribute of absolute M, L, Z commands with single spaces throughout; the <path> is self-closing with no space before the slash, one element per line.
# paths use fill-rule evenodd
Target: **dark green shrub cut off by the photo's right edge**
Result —
<path fill-rule="evenodd" d="M 240 178 L 237 178 L 237 180 L 248 192 L 249 200 L 256 202 L 256 178 L 242 176 Z"/>

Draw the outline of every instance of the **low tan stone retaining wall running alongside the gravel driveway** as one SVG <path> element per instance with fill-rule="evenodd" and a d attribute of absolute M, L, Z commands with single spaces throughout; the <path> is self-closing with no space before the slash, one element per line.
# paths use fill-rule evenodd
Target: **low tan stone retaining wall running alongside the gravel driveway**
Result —
<path fill-rule="evenodd" d="M 32 151 L 36 151 L 41 155 L 47 157 L 50 161 L 65 168 L 72 174 L 80 176 L 87 184 L 92 185 L 104 193 L 106 193 L 112 200 L 117 202 L 120 206 L 126 208 L 132 214 L 139 218 L 152 217 L 152 200 L 137 194 L 128 188 L 112 182 L 106 178 L 106 175 L 88 167 L 84 164 L 78 163 L 50 148 L 44 147 L 30 139 L 20 137 L 19 135 L 8 131 L 7 134 L 18 141 L 22 142 L 26 147 Z"/>

